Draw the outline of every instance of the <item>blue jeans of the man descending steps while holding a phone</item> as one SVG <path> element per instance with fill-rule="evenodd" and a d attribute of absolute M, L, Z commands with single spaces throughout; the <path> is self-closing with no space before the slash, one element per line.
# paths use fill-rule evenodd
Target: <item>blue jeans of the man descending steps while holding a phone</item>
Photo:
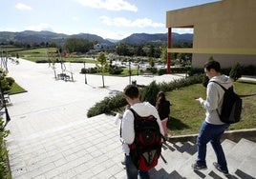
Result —
<path fill-rule="evenodd" d="M 200 133 L 197 138 L 198 146 L 198 158 L 197 163 L 206 165 L 205 156 L 206 156 L 206 145 L 208 142 L 211 143 L 212 148 L 215 151 L 217 162 L 220 165 L 221 169 L 227 170 L 226 160 L 224 156 L 224 149 L 220 142 L 221 137 L 224 133 L 224 130 L 229 127 L 228 124 L 224 125 L 212 125 L 209 123 L 203 122 Z"/>

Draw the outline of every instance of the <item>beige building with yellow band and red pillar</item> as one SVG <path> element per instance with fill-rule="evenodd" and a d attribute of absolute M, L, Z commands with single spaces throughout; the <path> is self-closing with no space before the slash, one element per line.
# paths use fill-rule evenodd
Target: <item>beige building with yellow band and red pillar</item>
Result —
<path fill-rule="evenodd" d="M 193 53 L 192 67 L 203 68 L 210 56 L 223 68 L 239 62 L 256 65 L 256 0 L 221 0 L 166 12 L 170 53 Z M 193 28 L 193 48 L 172 49 L 173 28 Z M 167 69 L 168 70 L 168 69 Z"/>

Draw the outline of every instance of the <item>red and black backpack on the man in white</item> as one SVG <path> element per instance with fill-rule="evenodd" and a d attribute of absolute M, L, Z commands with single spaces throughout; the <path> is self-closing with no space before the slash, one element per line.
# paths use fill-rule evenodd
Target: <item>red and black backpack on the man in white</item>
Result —
<path fill-rule="evenodd" d="M 142 117 L 134 109 L 130 110 L 135 117 L 135 140 L 129 145 L 131 159 L 139 170 L 152 169 L 158 165 L 164 140 L 160 126 L 153 115 Z M 166 163 L 162 156 L 161 158 Z"/>

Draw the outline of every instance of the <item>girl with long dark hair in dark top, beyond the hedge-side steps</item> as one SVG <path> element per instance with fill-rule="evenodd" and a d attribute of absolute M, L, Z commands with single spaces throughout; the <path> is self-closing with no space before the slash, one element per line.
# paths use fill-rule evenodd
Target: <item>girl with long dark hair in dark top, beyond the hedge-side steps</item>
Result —
<path fill-rule="evenodd" d="M 164 92 L 160 91 L 157 96 L 156 109 L 158 109 L 160 115 L 161 126 L 165 137 L 167 137 L 166 125 L 169 119 L 170 106 L 171 104 L 168 100 L 166 100 Z"/>

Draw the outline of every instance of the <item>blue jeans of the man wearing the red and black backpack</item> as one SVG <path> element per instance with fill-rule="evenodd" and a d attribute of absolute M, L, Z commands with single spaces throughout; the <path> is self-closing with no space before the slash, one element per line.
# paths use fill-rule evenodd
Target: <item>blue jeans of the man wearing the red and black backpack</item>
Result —
<path fill-rule="evenodd" d="M 137 169 L 132 162 L 130 155 L 125 155 L 125 167 L 128 179 L 137 179 L 138 174 L 140 179 L 149 179 L 148 171 L 140 171 Z"/>

